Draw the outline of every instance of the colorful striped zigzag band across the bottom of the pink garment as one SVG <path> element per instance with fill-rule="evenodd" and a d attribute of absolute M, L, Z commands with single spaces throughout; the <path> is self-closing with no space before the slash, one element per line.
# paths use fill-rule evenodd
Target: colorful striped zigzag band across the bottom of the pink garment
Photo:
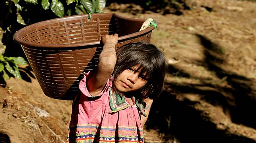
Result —
<path fill-rule="evenodd" d="M 85 129 L 85 130 L 83 130 Z M 136 126 L 119 126 L 118 137 L 116 136 L 116 127 L 101 127 L 98 135 L 96 135 L 98 125 L 96 124 L 78 124 L 76 128 L 70 128 L 67 143 L 76 141 L 76 143 L 92 143 L 97 140 L 99 143 L 143 143 L 143 129 Z M 87 132 L 83 132 L 87 131 Z M 80 133 L 79 133 L 80 132 Z"/>

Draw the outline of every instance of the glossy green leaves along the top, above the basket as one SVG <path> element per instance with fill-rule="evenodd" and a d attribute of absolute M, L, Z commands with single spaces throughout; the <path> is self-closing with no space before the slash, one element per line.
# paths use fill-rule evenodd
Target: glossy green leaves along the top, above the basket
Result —
<path fill-rule="evenodd" d="M 6 6 L 10 6 L 7 15 L 16 11 L 16 21 L 23 25 L 31 23 L 31 18 L 34 18 L 27 15 L 31 9 L 36 10 L 33 11 L 34 15 L 38 14 L 37 11 L 50 10 L 52 14 L 64 17 L 90 11 L 101 11 L 106 5 L 106 0 L 4 0 L 4 2 Z M 3 21 L 3 19 L 0 20 Z"/>

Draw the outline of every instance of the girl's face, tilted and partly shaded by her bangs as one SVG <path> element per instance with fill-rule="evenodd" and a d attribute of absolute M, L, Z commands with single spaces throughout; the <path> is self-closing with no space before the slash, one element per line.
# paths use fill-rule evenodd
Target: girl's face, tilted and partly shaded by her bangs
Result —
<path fill-rule="evenodd" d="M 122 71 L 114 82 L 116 89 L 120 92 L 131 92 L 142 88 L 147 83 L 147 79 L 143 75 L 140 76 L 140 70 L 137 69 L 138 66 L 133 66 Z"/>

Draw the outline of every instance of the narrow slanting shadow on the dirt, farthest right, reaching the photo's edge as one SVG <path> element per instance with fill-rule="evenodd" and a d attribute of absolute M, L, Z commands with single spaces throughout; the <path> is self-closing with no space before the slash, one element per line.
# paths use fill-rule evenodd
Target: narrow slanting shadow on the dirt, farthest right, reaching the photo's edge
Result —
<path fill-rule="evenodd" d="M 219 63 L 225 62 L 225 59 L 218 59 L 217 55 L 222 55 L 221 47 L 215 43 L 212 43 L 208 38 L 197 35 L 200 38 L 202 45 L 204 46 L 204 54 L 206 56 L 205 63 L 206 68 L 210 71 L 214 71 L 219 79 L 226 78 L 227 83 L 233 88 L 229 92 L 235 98 L 235 106 L 230 108 L 231 119 L 238 124 L 244 124 L 252 128 L 256 128 L 256 117 L 253 115 L 256 111 L 255 89 L 250 87 L 254 81 L 248 79 L 242 75 L 226 71 L 219 66 Z M 215 58 L 214 58 L 215 57 Z"/>

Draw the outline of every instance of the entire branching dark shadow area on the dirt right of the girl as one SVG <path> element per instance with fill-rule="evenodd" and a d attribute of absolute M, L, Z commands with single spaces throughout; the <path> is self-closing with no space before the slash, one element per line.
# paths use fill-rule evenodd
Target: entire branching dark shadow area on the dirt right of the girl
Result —
<path fill-rule="evenodd" d="M 222 47 L 204 36 L 197 36 L 205 48 L 205 59 L 195 62 L 215 73 L 219 79 L 225 79 L 229 86 L 213 85 L 207 82 L 208 79 L 195 77 L 174 65 L 169 65 L 171 75 L 200 79 L 202 84 L 166 83 L 165 91 L 151 107 L 146 129 L 159 130 L 159 133 L 165 135 L 166 141 L 176 137 L 181 143 L 216 143 L 220 140 L 232 143 L 254 143 L 253 139 L 246 136 L 217 129 L 216 124 L 207 119 L 208 116 L 204 115 L 205 113 L 194 108 L 196 104 L 200 104 L 197 100 L 191 101 L 187 98 L 179 100 L 184 94 L 197 95 L 200 100 L 222 107 L 224 112 L 229 111 L 232 122 L 256 128 L 256 118 L 253 114 L 256 109 L 256 91 L 251 87 L 254 81 L 221 68 L 226 64 L 225 59 L 222 58 Z M 232 97 L 227 97 L 226 94 Z"/>

